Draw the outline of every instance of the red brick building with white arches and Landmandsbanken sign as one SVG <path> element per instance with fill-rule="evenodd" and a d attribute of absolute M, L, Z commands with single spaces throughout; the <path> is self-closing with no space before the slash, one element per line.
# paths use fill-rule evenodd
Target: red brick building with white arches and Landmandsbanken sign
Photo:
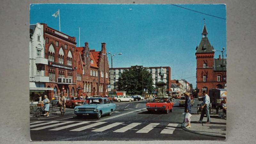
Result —
<path fill-rule="evenodd" d="M 49 76 L 49 83 L 45 83 L 49 99 L 64 94 L 76 95 L 76 38 L 41 24 L 44 28 L 45 58 L 48 65 L 45 66 L 45 76 Z"/>

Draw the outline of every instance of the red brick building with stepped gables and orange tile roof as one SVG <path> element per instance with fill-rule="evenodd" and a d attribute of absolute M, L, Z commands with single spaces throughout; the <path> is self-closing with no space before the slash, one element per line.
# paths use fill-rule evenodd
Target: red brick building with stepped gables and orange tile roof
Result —
<path fill-rule="evenodd" d="M 76 47 L 80 52 L 81 59 L 84 62 L 85 75 L 83 77 L 83 93 L 88 96 L 108 94 L 108 58 L 106 54 L 106 43 L 101 43 L 101 51 L 90 49 L 85 42 L 84 47 Z"/>

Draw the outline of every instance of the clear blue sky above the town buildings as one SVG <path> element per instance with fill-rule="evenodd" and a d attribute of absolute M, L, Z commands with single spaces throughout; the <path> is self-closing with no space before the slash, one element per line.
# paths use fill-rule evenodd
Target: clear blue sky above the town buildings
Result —
<path fill-rule="evenodd" d="M 226 18 L 224 4 L 182 4 L 184 8 Z M 169 66 L 171 79 L 186 79 L 196 86 L 195 49 L 204 26 L 214 49 L 226 47 L 226 20 L 171 4 L 31 4 L 30 24 L 46 23 L 76 37 L 77 47 L 84 42 L 99 51 L 106 43 L 113 67 Z M 215 52 L 215 58 L 220 52 Z M 110 58 L 108 58 L 110 64 Z"/>

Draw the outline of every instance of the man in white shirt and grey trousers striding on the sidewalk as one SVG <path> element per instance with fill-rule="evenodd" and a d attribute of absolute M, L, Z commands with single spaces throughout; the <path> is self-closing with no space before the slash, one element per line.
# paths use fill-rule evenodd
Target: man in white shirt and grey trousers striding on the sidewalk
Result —
<path fill-rule="evenodd" d="M 203 96 L 204 96 L 204 101 L 202 103 L 202 113 L 199 119 L 199 123 L 202 123 L 203 118 L 204 118 L 204 114 L 206 113 L 207 116 L 207 122 L 206 124 L 210 124 L 211 123 L 211 119 L 210 119 L 210 112 L 209 112 L 209 105 L 210 105 L 210 97 L 207 95 L 207 91 L 203 91 L 202 92 Z"/>

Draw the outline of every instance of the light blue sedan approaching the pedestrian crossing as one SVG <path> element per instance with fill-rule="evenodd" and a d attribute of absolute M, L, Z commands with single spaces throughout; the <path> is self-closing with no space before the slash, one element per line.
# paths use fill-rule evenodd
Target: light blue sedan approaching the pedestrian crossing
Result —
<path fill-rule="evenodd" d="M 104 114 L 111 116 L 115 109 L 116 104 L 112 104 L 108 98 L 93 97 L 87 98 L 83 105 L 76 106 L 74 110 L 77 117 L 97 115 L 97 118 L 100 119 L 101 115 Z"/>

